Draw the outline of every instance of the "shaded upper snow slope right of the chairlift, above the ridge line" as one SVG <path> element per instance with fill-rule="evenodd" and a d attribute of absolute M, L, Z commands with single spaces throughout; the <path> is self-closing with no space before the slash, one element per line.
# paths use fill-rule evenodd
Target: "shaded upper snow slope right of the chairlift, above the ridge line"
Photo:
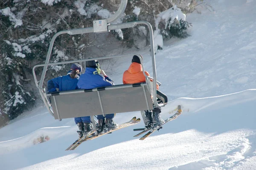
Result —
<path fill-rule="evenodd" d="M 158 78 L 169 97 L 209 97 L 256 87 L 256 2 L 246 2 L 219 0 L 212 2 L 214 12 L 189 15 L 192 36 L 157 54 Z"/>

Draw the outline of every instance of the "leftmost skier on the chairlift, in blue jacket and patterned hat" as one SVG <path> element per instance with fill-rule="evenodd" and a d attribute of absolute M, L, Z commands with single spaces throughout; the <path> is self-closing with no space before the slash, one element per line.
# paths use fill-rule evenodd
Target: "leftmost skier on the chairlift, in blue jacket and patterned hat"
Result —
<path fill-rule="evenodd" d="M 82 66 L 78 63 L 71 65 L 70 71 L 67 72 L 67 75 L 53 78 L 47 82 L 48 93 L 57 92 L 57 91 L 66 91 L 78 89 L 77 82 L 81 76 Z M 87 117 L 75 118 L 75 122 L 79 127 L 79 137 L 83 136 L 84 132 L 84 121 L 87 120 Z"/>

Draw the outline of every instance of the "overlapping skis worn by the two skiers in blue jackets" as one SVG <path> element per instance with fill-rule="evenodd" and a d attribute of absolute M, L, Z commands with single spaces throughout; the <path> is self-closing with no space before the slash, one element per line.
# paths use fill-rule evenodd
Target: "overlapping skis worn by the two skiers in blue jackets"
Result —
<path fill-rule="evenodd" d="M 112 129 L 112 130 L 108 130 L 108 131 L 103 131 L 102 133 L 95 133 L 96 131 L 93 131 L 91 132 L 90 134 L 87 135 L 86 138 L 78 138 L 73 144 L 71 144 L 66 150 L 75 150 L 77 147 L 79 147 L 79 145 L 81 143 L 83 143 L 84 141 L 88 141 L 88 140 L 93 140 L 95 138 L 98 138 L 102 135 L 105 135 L 105 134 L 108 134 L 108 133 L 112 133 L 113 131 L 116 131 L 116 130 L 119 130 L 119 129 L 122 129 L 124 127 L 128 127 L 128 126 L 131 126 L 131 125 L 134 125 L 134 124 L 137 124 L 140 122 L 140 118 L 132 118 L 130 121 L 128 122 L 125 122 L 123 124 L 120 124 L 117 126 L 116 129 Z"/>

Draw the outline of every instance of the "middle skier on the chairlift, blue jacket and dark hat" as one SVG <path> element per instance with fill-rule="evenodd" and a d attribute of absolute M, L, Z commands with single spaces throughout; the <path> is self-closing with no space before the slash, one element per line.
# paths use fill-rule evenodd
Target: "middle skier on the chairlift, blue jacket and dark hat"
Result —
<path fill-rule="evenodd" d="M 79 89 L 93 89 L 96 87 L 114 85 L 114 82 L 105 74 L 103 70 L 100 69 L 98 61 L 86 61 L 85 65 L 85 72 L 80 76 L 79 81 L 77 83 Z M 98 132 L 101 132 L 103 130 L 104 124 L 105 127 L 108 129 L 115 129 L 117 127 L 116 123 L 113 121 L 114 114 L 107 114 L 106 117 L 103 117 L 103 115 L 98 115 L 97 118 Z M 84 119 L 84 127 L 88 127 L 87 133 L 93 130 L 90 116 L 86 116 L 86 118 Z M 84 131 L 86 131 L 85 128 Z"/>

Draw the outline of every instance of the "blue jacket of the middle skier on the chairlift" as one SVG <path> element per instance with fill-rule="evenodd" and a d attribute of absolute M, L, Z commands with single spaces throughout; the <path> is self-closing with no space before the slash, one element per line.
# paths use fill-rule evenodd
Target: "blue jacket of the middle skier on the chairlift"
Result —
<path fill-rule="evenodd" d="M 93 72 L 96 69 L 91 67 L 86 67 L 85 73 L 82 74 L 79 78 L 77 86 L 79 89 L 93 89 L 96 87 L 104 87 L 104 86 L 113 86 L 114 82 L 108 78 L 104 77 L 101 74 L 94 75 Z"/>

